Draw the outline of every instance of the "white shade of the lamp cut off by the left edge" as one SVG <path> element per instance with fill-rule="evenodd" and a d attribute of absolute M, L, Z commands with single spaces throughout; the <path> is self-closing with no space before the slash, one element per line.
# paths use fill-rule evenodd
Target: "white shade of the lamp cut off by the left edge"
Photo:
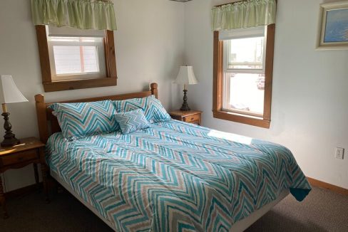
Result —
<path fill-rule="evenodd" d="M 1 75 L 1 103 L 27 102 L 28 100 L 19 91 L 11 75 Z"/>

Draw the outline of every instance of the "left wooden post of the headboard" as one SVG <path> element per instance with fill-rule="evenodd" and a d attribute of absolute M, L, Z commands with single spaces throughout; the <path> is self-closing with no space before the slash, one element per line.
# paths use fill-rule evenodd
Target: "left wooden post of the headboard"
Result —
<path fill-rule="evenodd" d="M 38 117 L 38 126 L 41 142 L 46 144 L 48 140 L 48 125 L 46 115 L 45 97 L 42 94 L 35 95 L 36 115 Z"/>

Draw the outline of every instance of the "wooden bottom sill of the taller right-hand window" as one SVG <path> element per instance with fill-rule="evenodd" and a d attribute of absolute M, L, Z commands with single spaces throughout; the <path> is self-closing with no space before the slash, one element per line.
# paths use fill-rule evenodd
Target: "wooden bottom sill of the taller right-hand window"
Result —
<path fill-rule="evenodd" d="M 213 117 L 220 120 L 228 120 L 232 122 L 240 122 L 255 127 L 270 128 L 270 120 L 262 119 L 262 117 L 252 117 L 248 115 L 240 115 L 226 111 L 213 111 Z"/>

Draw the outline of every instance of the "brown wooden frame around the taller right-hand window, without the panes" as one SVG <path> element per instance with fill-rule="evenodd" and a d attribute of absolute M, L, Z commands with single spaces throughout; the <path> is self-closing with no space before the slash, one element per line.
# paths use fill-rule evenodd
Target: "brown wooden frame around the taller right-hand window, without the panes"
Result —
<path fill-rule="evenodd" d="M 275 24 L 267 26 L 265 57 L 265 97 L 263 117 L 253 117 L 241 113 L 222 110 L 223 89 L 223 41 L 219 40 L 219 31 L 214 31 L 213 61 L 213 117 L 221 120 L 240 122 L 256 127 L 270 128 L 272 105 L 273 57 L 275 52 Z"/>

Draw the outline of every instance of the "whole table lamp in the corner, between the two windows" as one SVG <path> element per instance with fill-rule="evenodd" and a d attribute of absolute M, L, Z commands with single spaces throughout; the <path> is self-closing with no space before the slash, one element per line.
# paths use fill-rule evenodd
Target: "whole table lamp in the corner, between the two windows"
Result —
<path fill-rule="evenodd" d="M 183 98 L 183 105 L 181 106 L 180 110 L 188 111 L 190 110 L 190 107 L 188 107 L 188 88 L 187 85 L 195 85 L 198 84 L 198 80 L 195 78 L 195 73 L 193 73 L 193 67 L 192 66 L 181 66 L 178 77 L 175 80 L 175 83 L 178 85 L 184 85 L 184 98 Z"/>

